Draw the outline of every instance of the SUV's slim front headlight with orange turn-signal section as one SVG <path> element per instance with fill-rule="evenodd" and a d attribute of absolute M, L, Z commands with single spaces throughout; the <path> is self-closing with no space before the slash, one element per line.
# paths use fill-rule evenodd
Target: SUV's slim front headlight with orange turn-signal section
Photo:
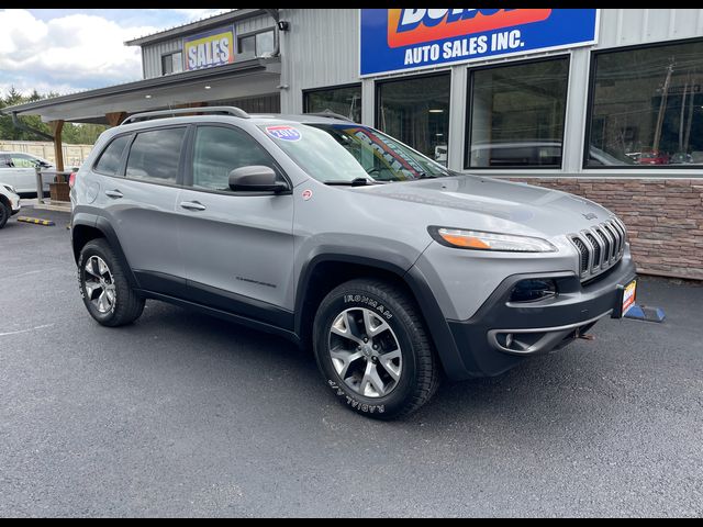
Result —
<path fill-rule="evenodd" d="M 460 249 L 504 250 L 509 253 L 555 253 L 557 250 L 546 239 L 531 236 L 448 227 L 427 227 L 427 231 L 439 244 Z"/>

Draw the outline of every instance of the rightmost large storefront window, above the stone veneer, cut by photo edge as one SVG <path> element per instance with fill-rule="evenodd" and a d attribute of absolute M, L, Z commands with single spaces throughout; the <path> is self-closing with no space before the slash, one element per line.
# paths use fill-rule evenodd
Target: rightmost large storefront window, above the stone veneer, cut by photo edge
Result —
<path fill-rule="evenodd" d="M 703 165 L 703 42 L 593 56 L 585 166 Z"/>

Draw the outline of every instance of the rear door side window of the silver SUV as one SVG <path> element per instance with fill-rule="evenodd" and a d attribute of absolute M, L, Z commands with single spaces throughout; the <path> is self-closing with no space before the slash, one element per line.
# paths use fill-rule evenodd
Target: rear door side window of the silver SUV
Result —
<path fill-rule="evenodd" d="M 125 176 L 160 183 L 176 183 L 186 128 L 142 132 L 132 143 Z"/>

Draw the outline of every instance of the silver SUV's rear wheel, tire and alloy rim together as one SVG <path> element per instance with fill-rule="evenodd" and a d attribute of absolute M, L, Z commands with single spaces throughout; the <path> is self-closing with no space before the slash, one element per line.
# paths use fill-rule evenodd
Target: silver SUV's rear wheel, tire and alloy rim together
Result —
<path fill-rule="evenodd" d="M 82 248 L 78 281 L 88 312 L 103 326 L 124 326 L 142 316 L 144 299 L 130 287 L 125 270 L 107 240 L 93 239 Z"/>

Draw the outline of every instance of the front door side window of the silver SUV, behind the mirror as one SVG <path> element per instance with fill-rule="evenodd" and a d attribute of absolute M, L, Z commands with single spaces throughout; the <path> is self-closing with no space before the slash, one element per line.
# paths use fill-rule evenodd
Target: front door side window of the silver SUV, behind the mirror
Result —
<path fill-rule="evenodd" d="M 223 126 L 198 127 L 193 152 L 193 188 L 228 191 L 230 172 L 252 165 L 277 170 L 271 156 L 246 132 Z"/>

